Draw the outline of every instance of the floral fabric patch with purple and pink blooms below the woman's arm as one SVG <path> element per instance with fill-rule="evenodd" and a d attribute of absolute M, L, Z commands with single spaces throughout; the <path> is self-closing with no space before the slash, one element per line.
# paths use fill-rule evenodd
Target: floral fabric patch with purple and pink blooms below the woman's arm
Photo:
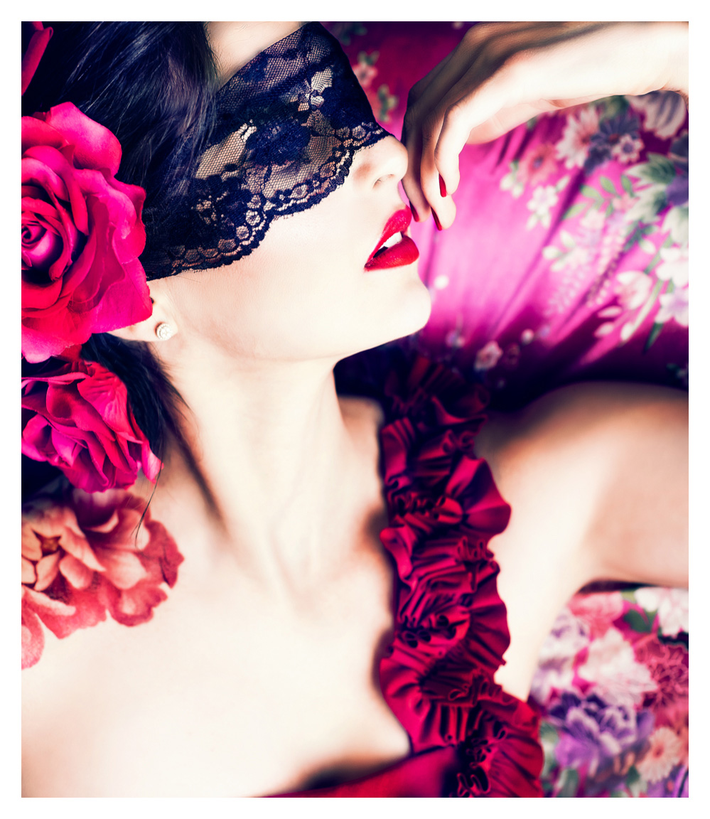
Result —
<path fill-rule="evenodd" d="M 576 595 L 540 654 L 547 796 L 688 795 L 688 593 Z"/>

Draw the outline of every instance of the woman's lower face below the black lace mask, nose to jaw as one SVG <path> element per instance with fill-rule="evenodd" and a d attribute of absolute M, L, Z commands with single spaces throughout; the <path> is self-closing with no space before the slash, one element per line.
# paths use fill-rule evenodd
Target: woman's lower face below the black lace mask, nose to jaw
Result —
<path fill-rule="evenodd" d="M 249 256 L 151 283 L 179 331 L 171 346 L 207 343 L 248 360 L 338 359 L 422 328 L 431 302 L 416 261 L 366 267 L 405 210 L 397 186 L 406 165 L 405 147 L 384 138 L 355 153 L 345 182 L 317 206 L 275 219 Z"/>

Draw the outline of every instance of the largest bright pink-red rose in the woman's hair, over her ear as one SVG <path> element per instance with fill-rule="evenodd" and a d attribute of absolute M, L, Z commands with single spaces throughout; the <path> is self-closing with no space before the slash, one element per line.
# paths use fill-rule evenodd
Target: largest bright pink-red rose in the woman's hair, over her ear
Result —
<path fill-rule="evenodd" d="M 22 354 L 61 355 L 147 319 L 145 192 L 115 179 L 120 143 L 70 102 L 22 117 Z"/>

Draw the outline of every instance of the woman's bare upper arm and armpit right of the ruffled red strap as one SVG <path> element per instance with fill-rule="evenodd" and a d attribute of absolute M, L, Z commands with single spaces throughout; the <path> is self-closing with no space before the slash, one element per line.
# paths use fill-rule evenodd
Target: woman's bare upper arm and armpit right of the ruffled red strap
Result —
<path fill-rule="evenodd" d="M 563 387 L 477 438 L 512 507 L 491 541 L 510 647 L 495 681 L 525 699 L 560 609 L 590 581 L 688 583 L 688 402 L 680 391 Z"/>

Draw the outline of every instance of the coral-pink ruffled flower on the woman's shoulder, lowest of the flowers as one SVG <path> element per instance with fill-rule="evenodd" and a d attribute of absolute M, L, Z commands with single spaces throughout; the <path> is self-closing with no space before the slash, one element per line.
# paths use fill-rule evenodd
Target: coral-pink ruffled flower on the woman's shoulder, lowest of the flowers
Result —
<path fill-rule="evenodd" d="M 95 626 L 106 611 L 124 626 L 152 617 L 183 562 L 145 503 L 122 491 L 65 500 L 41 495 L 22 514 L 22 667 L 40 658 L 40 622 L 57 637 Z"/>

